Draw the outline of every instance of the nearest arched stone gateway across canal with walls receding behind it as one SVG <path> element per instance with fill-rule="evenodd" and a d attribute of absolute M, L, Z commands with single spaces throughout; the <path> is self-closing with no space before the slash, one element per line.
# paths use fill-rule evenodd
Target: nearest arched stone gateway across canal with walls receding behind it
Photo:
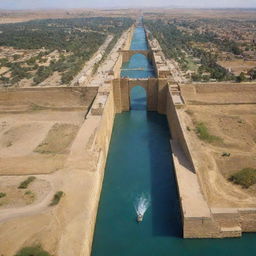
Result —
<path fill-rule="evenodd" d="M 127 42 L 131 43 L 132 33 L 134 32 L 134 27 L 131 28 L 129 33 L 129 39 Z M 148 33 L 146 33 L 148 39 Z M 148 42 L 148 58 L 152 62 L 153 69 L 156 74 L 156 78 L 143 78 L 143 79 L 131 79 L 131 78 L 121 78 L 120 70 L 122 64 L 127 61 L 127 55 L 132 55 L 136 51 L 131 51 L 129 53 L 130 46 L 126 45 L 120 51 L 119 57 L 113 68 L 114 75 L 114 98 L 117 112 L 130 110 L 130 93 L 131 89 L 135 86 L 141 86 L 145 89 L 147 95 L 147 109 L 148 111 L 157 111 L 159 114 L 166 114 L 166 95 L 168 81 L 170 81 L 171 73 L 166 66 L 165 58 L 162 51 L 155 51 L 152 48 L 152 44 Z M 125 51 L 125 53 L 124 53 Z M 139 51 L 138 51 L 139 52 Z M 144 52 L 144 51 L 142 51 Z"/>

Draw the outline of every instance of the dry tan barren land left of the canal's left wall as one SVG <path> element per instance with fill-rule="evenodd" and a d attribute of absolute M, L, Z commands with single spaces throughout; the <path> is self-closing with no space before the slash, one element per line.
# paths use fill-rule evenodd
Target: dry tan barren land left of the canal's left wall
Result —
<path fill-rule="evenodd" d="M 1 255 L 13 255 L 29 240 L 47 241 L 55 253 L 54 234 L 61 224 L 48 205 L 61 187 L 70 147 L 96 93 L 97 88 L 85 87 L 0 91 Z M 31 176 L 35 180 L 20 189 Z"/>

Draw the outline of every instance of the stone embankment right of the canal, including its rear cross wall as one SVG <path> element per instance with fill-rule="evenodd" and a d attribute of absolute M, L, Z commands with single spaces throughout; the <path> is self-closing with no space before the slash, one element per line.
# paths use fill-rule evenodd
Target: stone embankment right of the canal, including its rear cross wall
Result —
<path fill-rule="evenodd" d="M 198 104 L 199 98 L 202 104 L 255 104 L 255 90 L 254 84 L 169 86 L 166 113 L 172 134 L 171 146 L 185 238 L 239 237 L 242 232 L 256 231 L 255 208 L 212 208 L 209 205 L 207 193 L 204 192 L 207 190 L 205 181 L 198 170 L 200 159 L 195 151 L 202 149 L 191 144 L 187 126 L 181 117 L 184 102 Z M 217 98 L 221 93 L 227 95 L 222 98 L 226 100 L 220 103 Z M 213 97 L 213 94 L 217 96 Z"/>

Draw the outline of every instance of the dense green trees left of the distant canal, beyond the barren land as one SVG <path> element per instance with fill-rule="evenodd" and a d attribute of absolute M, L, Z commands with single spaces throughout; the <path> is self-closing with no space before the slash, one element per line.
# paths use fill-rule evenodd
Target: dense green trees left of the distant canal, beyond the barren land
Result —
<path fill-rule="evenodd" d="M 15 24 L 0 25 L 0 46 L 18 49 L 40 49 L 41 52 L 29 60 L 9 62 L 0 59 L 0 67 L 8 67 L 12 72 L 11 79 L 0 76 L 6 85 L 14 85 L 20 80 L 33 77 L 34 85 L 38 85 L 54 72 L 61 73 L 61 83 L 69 84 L 84 63 L 106 40 L 108 34 L 114 39 L 107 48 L 106 55 L 120 37 L 121 33 L 133 23 L 129 18 L 73 18 L 34 20 Z M 51 59 L 49 53 L 56 51 L 57 59 Z M 15 59 L 19 59 L 16 56 Z"/>

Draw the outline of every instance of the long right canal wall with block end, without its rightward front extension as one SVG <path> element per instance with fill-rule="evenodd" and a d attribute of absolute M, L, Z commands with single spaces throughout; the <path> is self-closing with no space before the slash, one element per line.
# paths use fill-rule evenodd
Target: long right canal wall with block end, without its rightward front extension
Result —
<path fill-rule="evenodd" d="M 181 106 L 180 106 L 181 107 Z M 182 121 L 169 86 L 166 116 L 171 133 L 172 159 L 175 169 L 184 238 L 217 237 L 219 227 L 212 219 L 210 209 L 195 172 L 195 163 L 189 150 Z"/>

